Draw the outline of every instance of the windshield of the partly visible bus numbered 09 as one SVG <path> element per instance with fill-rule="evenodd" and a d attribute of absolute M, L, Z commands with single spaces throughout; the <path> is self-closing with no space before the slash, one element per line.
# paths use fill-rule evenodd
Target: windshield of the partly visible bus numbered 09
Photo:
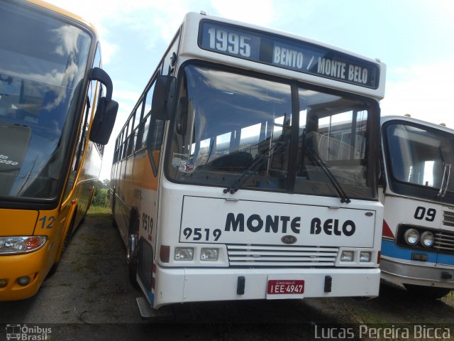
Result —
<path fill-rule="evenodd" d="M 384 136 L 393 190 L 409 194 L 399 186 L 403 184 L 419 188 L 419 195 L 423 195 L 423 188 L 435 190 L 438 197 L 446 191 L 454 193 L 454 141 L 449 134 L 399 122 L 387 125 Z M 433 193 L 426 195 L 434 197 Z"/>

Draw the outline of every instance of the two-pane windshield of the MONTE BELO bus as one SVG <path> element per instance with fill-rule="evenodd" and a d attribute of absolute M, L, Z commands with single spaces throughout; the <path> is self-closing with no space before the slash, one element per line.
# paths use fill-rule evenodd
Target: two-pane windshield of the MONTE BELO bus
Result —
<path fill-rule="evenodd" d="M 295 94 L 297 103 L 292 102 Z M 369 111 L 375 105 L 187 65 L 167 174 L 179 183 L 233 192 L 340 196 L 341 191 L 351 198 L 376 199 L 375 167 L 367 151 L 370 117 L 377 116 Z"/>

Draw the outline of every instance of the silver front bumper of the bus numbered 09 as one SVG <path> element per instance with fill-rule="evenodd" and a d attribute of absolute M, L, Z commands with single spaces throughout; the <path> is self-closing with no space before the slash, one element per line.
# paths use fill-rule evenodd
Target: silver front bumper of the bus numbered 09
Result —
<path fill-rule="evenodd" d="M 436 264 L 405 264 L 394 259 L 380 261 L 382 278 L 396 284 L 454 288 L 454 269 L 443 268 Z M 450 278 L 449 278 L 450 277 Z"/>

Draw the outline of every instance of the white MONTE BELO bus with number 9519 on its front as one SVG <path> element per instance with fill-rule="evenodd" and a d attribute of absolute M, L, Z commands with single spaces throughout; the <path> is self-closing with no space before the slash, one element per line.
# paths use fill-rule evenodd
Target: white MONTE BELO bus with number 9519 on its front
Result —
<path fill-rule="evenodd" d="M 150 305 L 377 296 L 384 80 L 380 61 L 188 13 L 111 173 Z"/>

